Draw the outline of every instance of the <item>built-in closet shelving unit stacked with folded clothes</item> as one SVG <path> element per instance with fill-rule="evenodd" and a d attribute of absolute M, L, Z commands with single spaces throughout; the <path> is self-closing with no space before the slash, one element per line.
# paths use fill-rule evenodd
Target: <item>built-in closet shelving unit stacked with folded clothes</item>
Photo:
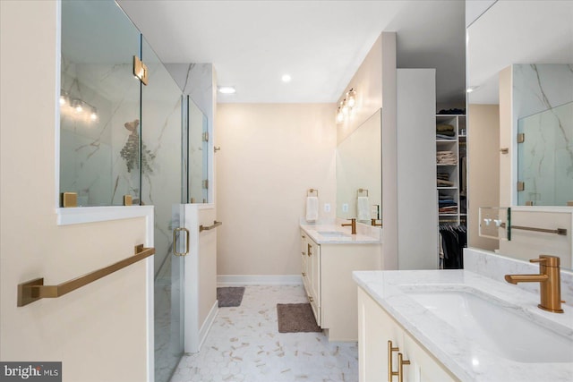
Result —
<path fill-rule="evenodd" d="M 466 225 L 466 115 L 436 115 L 436 188 L 439 223 Z"/>

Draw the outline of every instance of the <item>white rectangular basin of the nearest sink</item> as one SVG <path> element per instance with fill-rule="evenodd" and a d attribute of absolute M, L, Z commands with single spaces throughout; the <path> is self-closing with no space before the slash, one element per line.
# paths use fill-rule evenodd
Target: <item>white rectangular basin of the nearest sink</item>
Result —
<path fill-rule="evenodd" d="M 485 350 L 518 362 L 572 362 L 573 341 L 532 322 L 517 307 L 459 291 L 405 289 L 438 318 Z"/>

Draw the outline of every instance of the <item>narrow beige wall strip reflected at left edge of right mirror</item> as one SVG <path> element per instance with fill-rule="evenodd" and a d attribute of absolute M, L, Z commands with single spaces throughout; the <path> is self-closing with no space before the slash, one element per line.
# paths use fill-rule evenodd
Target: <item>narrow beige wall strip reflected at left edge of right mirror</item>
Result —
<path fill-rule="evenodd" d="M 468 110 L 468 246 L 495 250 L 500 242 L 479 236 L 479 208 L 500 206 L 500 106 Z"/>

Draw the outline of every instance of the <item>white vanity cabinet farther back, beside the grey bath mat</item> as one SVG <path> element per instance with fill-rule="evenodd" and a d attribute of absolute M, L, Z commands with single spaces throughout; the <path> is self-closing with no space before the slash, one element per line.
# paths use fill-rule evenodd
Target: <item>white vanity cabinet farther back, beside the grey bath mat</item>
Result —
<path fill-rule="evenodd" d="M 317 243 L 301 230 L 304 289 L 316 323 L 329 341 L 356 341 L 355 270 L 381 268 L 380 243 Z"/>

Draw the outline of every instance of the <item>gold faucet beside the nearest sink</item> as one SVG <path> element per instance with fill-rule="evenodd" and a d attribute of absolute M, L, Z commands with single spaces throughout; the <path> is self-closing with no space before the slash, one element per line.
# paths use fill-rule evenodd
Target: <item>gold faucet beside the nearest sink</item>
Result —
<path fill-rule="evenodd" d="M 531 263 L 539 263 L 538 275 L 506 275 L 505 281 L 510 284 L 539 283 L 541 303 L 537 306 L 554 313 L 563 313 L 559 260 L 557 256 L 541 255 L 539 259 L 529 260 Z"/>

